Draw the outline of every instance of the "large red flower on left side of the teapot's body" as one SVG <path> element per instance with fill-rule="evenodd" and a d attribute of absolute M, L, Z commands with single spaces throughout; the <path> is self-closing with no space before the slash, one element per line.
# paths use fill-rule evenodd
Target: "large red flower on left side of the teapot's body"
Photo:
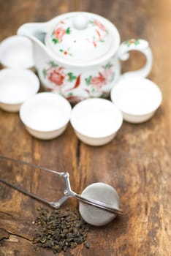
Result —
<path fill-rule="evenodd" d="M 61 86 L 64 83 L 65 75 L 62 72 L 62 68 L 50 69 L 48 74 L 48 80 L 55 83 L 56 86 Z"/>

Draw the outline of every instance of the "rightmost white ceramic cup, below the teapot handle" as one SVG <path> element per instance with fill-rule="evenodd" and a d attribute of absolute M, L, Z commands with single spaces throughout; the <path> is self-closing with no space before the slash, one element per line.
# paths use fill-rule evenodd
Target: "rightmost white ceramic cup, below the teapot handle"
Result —
<path fill-rule="evenodd" d="M 147 78 L 123 78 L 111 91 L 111 99 L 130 123 L 148 121 L 161 105 L 162 94 Z"/>

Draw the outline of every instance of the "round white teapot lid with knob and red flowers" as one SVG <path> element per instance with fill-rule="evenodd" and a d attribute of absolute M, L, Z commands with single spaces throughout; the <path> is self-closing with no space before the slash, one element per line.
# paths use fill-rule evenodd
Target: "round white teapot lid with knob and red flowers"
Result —
<path fill-rule="evenodd" d="M 113 56 L 120 36 L 113 23 L 99 15 L 69 12 L 53 20 L 45 44 L 65 63 L 96 64 Z"/>

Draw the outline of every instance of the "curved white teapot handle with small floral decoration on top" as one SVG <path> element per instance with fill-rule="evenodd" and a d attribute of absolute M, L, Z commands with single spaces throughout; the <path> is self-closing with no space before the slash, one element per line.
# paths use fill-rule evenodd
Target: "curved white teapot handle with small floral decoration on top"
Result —
<path fill-rule="evenodd" d="M 121 77 L 122 78 L 127 78 L 132 76 L 140 76 L 142 78 L 147 77 L 148 74 L 151 72 L 151 67 L 153 63 L 153 55 L 148 42 L 143 39 L 126 40 L 120 45 L 118 49 L 118 58 L 121 59 L 121 61 L 126 61 L 127 59 L 129 59 L 129 51 L 131 50 L 137 50 L 143 53 L 146 57 L 146 63 L 144 67 L 142 67 L 141 69 L 136 71 L 131 71 L 131 72 L 125 72 L 123 73 L 123 75 L 121 75 Z"/>

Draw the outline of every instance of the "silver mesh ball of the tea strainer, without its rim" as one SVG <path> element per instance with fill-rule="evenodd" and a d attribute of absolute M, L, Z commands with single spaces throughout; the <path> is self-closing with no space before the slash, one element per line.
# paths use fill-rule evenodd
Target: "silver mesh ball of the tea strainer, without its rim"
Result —
<path fill-rule="evenodd" d="M 81 196 L 88 199 L 98 200 L 112 208 L 119 208 L 118 193 L 110 185 L 101 182 L 97 182 L 86 187 Z M 116 217 L 116 214 L 105 211 L 102 208 L 97 208 L 96 206 L 88 205 L 81 201 L 79 202 L 79 211 L 81 217 L 83 217 L 86 222 L 94 226 L 106 225 Z"/>

